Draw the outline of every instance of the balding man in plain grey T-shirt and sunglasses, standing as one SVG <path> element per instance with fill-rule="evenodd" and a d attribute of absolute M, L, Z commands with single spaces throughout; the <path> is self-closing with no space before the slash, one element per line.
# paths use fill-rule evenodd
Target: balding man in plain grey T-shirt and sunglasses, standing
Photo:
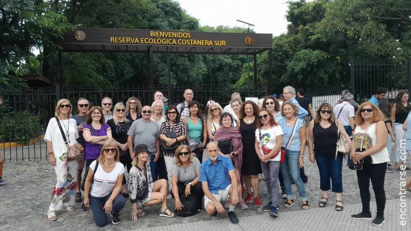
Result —
<path fill-rule="evenodd" d="M 157 160 L 161 151 L 159 139 L 160 129 L 157 122 L 151 119 L 151 114 L 151 107 L 148 105 L 143 106 L 141 109 L 142 118 L 135 120 L 127 132 L 127 145 L 132 159 L 135 155 L 134 150 L 138 145 L 147 145 L 148 151 L 151 154 L 150 168 L 153 182 L 155 182 L 157 180 Z"/>

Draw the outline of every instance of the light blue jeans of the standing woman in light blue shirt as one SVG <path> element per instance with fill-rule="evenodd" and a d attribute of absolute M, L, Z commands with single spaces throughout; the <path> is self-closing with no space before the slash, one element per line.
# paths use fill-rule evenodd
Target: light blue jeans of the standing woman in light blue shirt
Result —
<path fill-rule="evenodd" d="M 284 163 L 279 165 L 281 173 L 283 174 L 284 188 L 287 194 L 287 199 L 292 200 L 291 179 L 297 186 L 298 193 L 302 201 L 307 201 L 307 193 L 304 188 L 303 180 L 300 176 L 300 151 L 287 150 Z M 290 177 L 291 174 L 291 177 Z"/>

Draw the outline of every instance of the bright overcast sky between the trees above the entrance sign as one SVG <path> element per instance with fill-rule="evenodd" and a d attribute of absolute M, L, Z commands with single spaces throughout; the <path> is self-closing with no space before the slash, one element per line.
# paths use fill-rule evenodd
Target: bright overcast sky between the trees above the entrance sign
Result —
<path fill-rule="evenodd" d="M 287 0 L 176 0 L 181 8 L 199 20 L 200 25 L 238 26 L 247 28 L 241 20 L 254 24 L 256 33 L 287 32 Z"/>

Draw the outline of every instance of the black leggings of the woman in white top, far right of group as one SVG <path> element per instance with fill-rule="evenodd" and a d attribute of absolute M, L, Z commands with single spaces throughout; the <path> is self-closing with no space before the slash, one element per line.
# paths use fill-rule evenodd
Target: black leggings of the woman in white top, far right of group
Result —
<path fill-rule="evenodd" d="M 363 165 L 363 169 L 357 171 L 358 187 L 360 188 L 361 203 L 363 204 L 363 212 L 370 213 L 369 201 L 369 180 L 372 183 L 377 202 L 377 214 L 384 215 L 385 209 L 385 190 L 384 180 L 385 171 L 387 170 L 387 162 L 381 164 Z"/>

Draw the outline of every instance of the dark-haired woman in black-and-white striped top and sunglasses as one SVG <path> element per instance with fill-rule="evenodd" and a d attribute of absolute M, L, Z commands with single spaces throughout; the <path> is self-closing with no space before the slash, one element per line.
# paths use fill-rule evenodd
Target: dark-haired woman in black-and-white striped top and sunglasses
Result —
<path fill-rule="evenodd" d="M 185 135 L 187 131 L 185 130 L 185 124 L 182 119 L 180 119 L 180 114 L 177 111 L 175 105 L 169 106 L 167 108 L 166 120 L 161 124 L 160 127 L 160 139 L 163 141 L 165 146 L 172 147 L 175 143 L 182 145 L 182 142 L 185 140 Z M 174 132 L 176 138 L 170 138 L 165 136 L 167 132 Z M 162 149 L 162 154 L 164 156 L 165 168 L 167 170 L 167 181 L 169 182 L 169 189 L 171 189 L 171 170 L 174 164 L 174 153 L 175 150 Z M 173 197 L 169 193 L 167 195 L 167 200 L 171 200 Z"/>

